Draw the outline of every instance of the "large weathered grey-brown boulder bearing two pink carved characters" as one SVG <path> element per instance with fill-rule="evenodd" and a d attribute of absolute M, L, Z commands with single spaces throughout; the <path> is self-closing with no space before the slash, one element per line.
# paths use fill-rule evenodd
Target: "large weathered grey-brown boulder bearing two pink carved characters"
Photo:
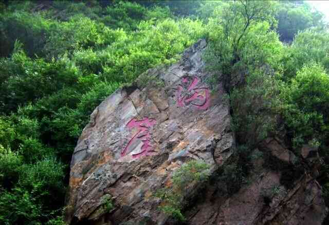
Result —
<path fill-rule="evenodd" d="M 157 210 L 160 202 L 153 194 L 170 183 L 174 170 L 190 159 L 214 170 L 230 157 L 229 105 L 221 84 L 211 95 L 205 83 L 205 47 L 200 40 L 177 64 L 149 70 L 146 75 L 161 79 L 162 87 L 123 88 L 95 109 L 71 160 L 68 222 L 137 224 L 148 218 L 150 224 L 163 224 L 168 216 Z M 106 218 L 105 194 L 116 207 Z"/>

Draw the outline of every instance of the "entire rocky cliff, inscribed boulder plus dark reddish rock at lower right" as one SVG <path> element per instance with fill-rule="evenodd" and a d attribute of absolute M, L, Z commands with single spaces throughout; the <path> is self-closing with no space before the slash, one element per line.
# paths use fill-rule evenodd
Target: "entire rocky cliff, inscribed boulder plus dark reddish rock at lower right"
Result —
<path fill-rule="evenodd" d="M 314 173 L 297 167 L 296 156 L 272 138 L 253 151 L 264 157 L 253 160 L 238 192 L 227 194 L 227 184 L 216 181 L 236 150 L 223 84 L 212 91 L 206 82 L 205 48 L 200 40 L 178 63 L 147 71 L 94 110 L 71 160 L 68 223 L 173 224 L 154 193 L 196 159 L 212 176 L 205 187 L 186 188 L 186 224 L 321 224 L 327 209 L 315 179 L 318 157 L 308 160 L 306 147 L 304 163 Z M 113 209 L 104 210 L 104 196 L 112 196 Z"/>

